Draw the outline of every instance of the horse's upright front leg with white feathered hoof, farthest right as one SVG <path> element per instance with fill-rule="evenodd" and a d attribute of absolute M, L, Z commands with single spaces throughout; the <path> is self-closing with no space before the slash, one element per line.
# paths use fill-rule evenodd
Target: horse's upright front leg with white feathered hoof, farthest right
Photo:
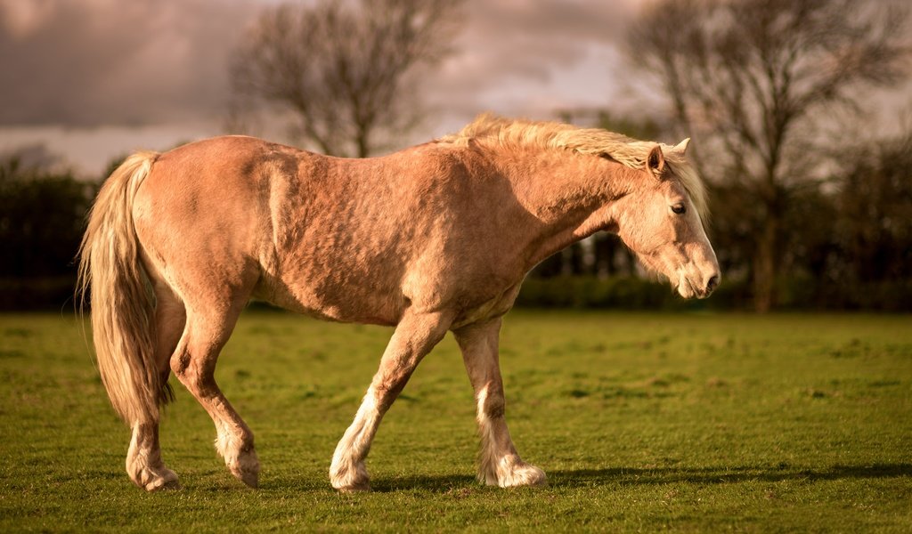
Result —
<path fill-rule="evenodd" d="M 498 361 L 500 318 L 453 331 L 475 389 L 482 453 L 478 479 L 489 486 L 542 486 L 544 471 L 523 462 L 504 418 L 503 379 Z"/>

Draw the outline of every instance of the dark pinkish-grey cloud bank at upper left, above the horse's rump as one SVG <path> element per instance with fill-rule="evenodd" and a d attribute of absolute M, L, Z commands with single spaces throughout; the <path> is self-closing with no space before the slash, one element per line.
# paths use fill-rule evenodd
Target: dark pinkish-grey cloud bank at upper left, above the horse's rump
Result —
<path fill-rule="evenodd" d="M 0 124 L 146 124 L 222 113 L 255 14 L 221 0 L 0 0 Z M 14 3 L 18 3 L 16 6 Z"/>

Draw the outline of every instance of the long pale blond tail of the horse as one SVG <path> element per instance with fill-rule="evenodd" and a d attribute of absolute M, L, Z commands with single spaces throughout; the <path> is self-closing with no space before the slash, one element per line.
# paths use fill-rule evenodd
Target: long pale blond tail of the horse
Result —
<path fill-rule="evenodd" d="M 155 301 L 140 264 L 133 199 L 155 152 L 126 159 L 98 192 L 79 246 L 80 311 L 91 285 L 92 338 L 111 405 L 128 424 L 156 420 L 171 397 L 155 363 Z"/>

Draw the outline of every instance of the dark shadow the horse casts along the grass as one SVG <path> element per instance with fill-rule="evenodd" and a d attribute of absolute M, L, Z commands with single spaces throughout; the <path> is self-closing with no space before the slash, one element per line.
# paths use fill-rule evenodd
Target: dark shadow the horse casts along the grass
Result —
<path fill-rule="evenodd" d="M 848 478 L 912 477 L 912 464 L 875 464 L 871 466 L 833 466 L 825 470 L 800 469 L 787 465 L 772 467 L 608 467 L 551 471 L 552 488 L 586 488 L 595 486 L 647 484 L 727 484 L 737 482 L 782 482 L 786 480 L 841 480 Z M 426 490 L 447 492 L 476 485 L 469 475 L 416 475 L 372 480 L 374 491 Z"/>

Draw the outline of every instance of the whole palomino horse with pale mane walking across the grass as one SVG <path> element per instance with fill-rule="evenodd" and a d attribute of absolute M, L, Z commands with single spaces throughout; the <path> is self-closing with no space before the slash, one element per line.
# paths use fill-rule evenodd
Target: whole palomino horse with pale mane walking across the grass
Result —
<path fill-rule="evenodd" d="M 719 265 L 687 144 L 484 115 L 382 158 L 247 137 L 131 156 L 91 211 L 78 286 L 85 295 L 91 283 L 98 368 L 132 428 L 130 478 L 148 490 L 178 486 L 159 447 L 173 372 L 212 416 L 234 477 L 257 485 L 254 436 L 213 379 L 257 298 L 396 327 L 333 455 L 333 487 L 369 488 L 364 462 L 380 419 L 448 330 L 475 390 L 479 480 L 544 484 L 504 420 L 501 317 L 536 263 L 600 230 L 617 232 L 681 296 L 708 296 Z"/>

